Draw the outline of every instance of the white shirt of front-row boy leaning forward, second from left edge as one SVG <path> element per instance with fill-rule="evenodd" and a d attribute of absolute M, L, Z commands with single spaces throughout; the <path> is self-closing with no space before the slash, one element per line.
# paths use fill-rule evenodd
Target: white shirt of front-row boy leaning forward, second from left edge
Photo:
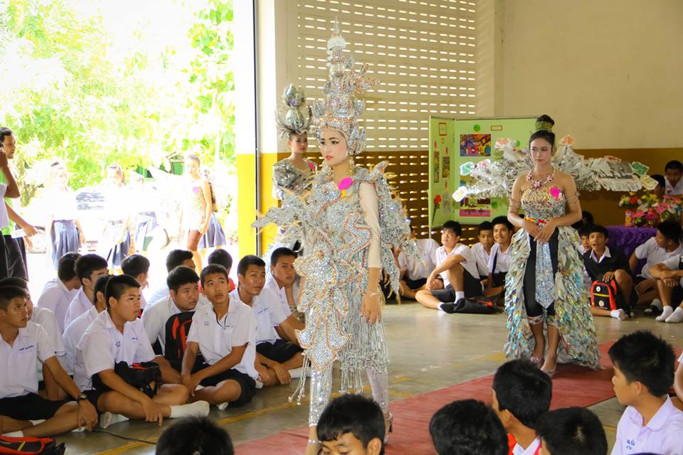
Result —
<path fill-rule="evenodd" d="M 127 322 L 118 331 L 109 311 L 102 311 L 83 333 L 76 348 L 73 380 L 80 390 L 92 389 L 92 375 L 113 370 L 118 362 L 128 365 L 154 359 L 152 344 L 144 333 L 142 321 Z"/>

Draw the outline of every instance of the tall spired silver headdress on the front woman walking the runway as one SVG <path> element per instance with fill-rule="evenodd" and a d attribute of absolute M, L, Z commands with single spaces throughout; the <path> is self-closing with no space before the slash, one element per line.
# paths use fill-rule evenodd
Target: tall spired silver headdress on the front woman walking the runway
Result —
<path fill-rule="evenodd" d="M 354 94 L 370 90 L 378 81 L 366 75 L 368 65 L 353 70 L 354 59 L 342 54 L 346 41 L 339 33 L 339 22 L 334 21 L 334 33 L 327 41 L 327 68 L 329 81 L 323 87 L 324 100 L 313 107 L 314 128 L 318 140 L 322 129 L 332 128 L 344 134 L 349 154 L 355 156 L 365 148 L 365 130 L 359 126 L 359 118 L 365 103 L 356 100 Z"/>

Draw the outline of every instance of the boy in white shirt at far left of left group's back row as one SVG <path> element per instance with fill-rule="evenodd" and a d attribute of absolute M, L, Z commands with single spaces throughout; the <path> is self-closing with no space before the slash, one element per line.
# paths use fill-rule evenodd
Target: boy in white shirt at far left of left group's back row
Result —
<path fill-rule="evenodd" d="M 69 304 L 83 285 L 76 274 L 76 261 L 79 257 L 78 253 L 66 253 L 60 257 L 57 277 L 45 284 L 36 302 L 36 306 L 51 310 L 55 314 L 60 333 L 64 333 L 64 319 Z"/>

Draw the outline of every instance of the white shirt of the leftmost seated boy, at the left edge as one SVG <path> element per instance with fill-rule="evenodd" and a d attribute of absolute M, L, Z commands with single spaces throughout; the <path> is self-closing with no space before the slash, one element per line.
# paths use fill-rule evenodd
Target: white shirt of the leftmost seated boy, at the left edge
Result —
<path fill-rule="evenodd" d="M 45 363 L 54 356 L 50 336 L 35 322 L 19 329 L 12 346 L 0 337 L 0 399 L 38 393 L 36 358 Z"/>

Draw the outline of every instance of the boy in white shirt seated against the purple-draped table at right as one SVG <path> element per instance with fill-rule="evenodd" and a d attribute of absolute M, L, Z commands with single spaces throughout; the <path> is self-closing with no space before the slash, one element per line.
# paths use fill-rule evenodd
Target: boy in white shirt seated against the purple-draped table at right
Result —
<path fill-rule="evenodd" d="M 662 301 L 657 298 L 657 280 L 652 277 L 650 268 L 655 264 L 665 262 L 669 257 L 678 257 L 683 253 L 681 234 L 679 223 L 674 220 L 662 221 L 657 225 L 655 237 L 639 245 L 628 260 L 630 269 L 635 271 L 638 260 L 647 259 L 640 274 L 635 277 L 638 302 L 652 302 L 650 308 L 645 309 L 645 314 L 659 314 L 662 311 Z"/>

